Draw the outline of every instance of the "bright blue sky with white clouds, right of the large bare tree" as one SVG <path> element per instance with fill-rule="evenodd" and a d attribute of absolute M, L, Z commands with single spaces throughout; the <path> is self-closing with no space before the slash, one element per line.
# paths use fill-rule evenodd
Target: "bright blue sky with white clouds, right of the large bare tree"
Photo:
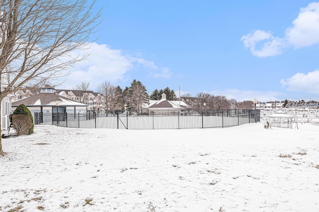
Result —
<path fill-rule="evenodd" d="M 136 79 L 149 93 L 319 101 L 319 2 L 97 0 L 102 7 L 91 55 L 60 88 Z"/>

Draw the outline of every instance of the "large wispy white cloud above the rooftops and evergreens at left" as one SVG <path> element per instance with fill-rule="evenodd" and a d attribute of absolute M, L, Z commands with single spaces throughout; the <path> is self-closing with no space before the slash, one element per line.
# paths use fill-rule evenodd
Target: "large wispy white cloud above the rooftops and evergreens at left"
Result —
<path fill-rule="evenodd" d="M 171 74 L 167 68 L 159 68 L 152 61 L 133 57 L 122 50 L 111 49 L 106 44 L 91 43 L 90 48 L 76 50 L 71 57 L 85 54 L 90 55 L 69 69 L 70 75 L 62 78 L 66 82 L 61 88 L 72 89 L 81 81 L 90 82 L 92 89 L 104 81 L 116 84 L 126 81 L 126 73 L 131 70 L 146 70 L 153 77 L 169 78 Z"/>

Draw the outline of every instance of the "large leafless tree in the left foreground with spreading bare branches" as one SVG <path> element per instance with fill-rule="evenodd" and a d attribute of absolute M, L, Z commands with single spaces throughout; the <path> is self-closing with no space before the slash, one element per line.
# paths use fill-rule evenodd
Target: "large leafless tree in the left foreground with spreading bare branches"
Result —
<path fill-rule="evenodd" d="M 56 80 L 69 66 L 85 59 L 71 57 L 71 52 L 88 48 L 89 35 L 101 14 L 92 14 L 94 3 L 0 1 L 0 101 L 22 86 L 38 84 L 42 77 Z"/>

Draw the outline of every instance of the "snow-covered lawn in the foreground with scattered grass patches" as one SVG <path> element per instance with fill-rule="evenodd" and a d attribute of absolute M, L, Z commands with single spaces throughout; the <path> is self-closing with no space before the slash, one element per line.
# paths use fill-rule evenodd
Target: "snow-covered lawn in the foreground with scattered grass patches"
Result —
<path fill-rule="evenodd" d="M 319 125 L 110 130 L 2 140 L 1 212 L 319 211 Z"/>

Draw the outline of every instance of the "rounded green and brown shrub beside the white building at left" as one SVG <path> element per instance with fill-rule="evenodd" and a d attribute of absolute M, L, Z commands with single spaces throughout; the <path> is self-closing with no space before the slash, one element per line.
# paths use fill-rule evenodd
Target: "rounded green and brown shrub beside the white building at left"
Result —
<path fill-rule="evenodd" d="M 23 104 L 19 105 L 10 115 L 10 122 L 16 136 L 33 133 L 33 116 L 31 111 Z"/>

